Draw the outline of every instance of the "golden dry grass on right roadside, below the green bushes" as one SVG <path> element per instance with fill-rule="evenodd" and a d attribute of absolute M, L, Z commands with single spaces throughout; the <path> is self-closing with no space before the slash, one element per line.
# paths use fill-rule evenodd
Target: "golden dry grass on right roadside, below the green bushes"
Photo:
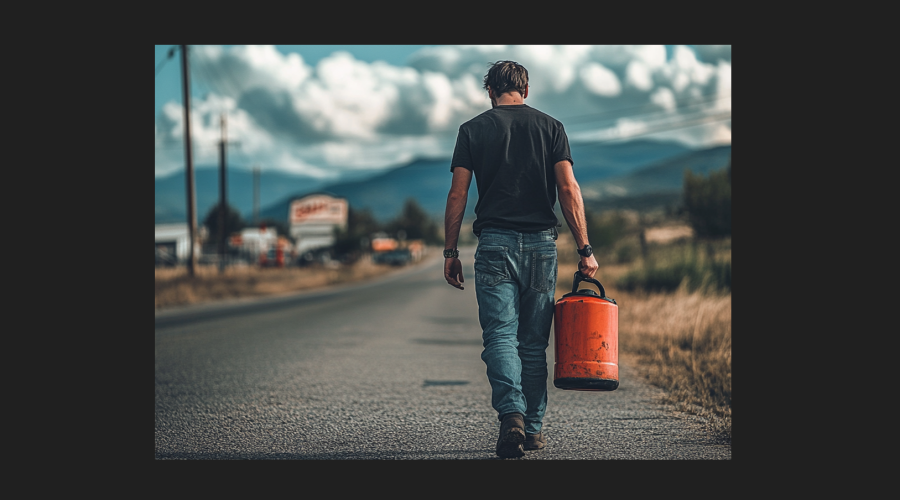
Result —
<path fill-rule="evenodd" d="M 561 235 L 557 294 L 572 289 L 571 236 Z M 677 410 L 707 418 L 731 437 L 731 294 L 625 292 L 616 281 L 639 262 L 601 264 L 595 277 L 619 305 L 619 359 L 666 391 Z M 590 284 L 582 288 L 591 288 Z"/>

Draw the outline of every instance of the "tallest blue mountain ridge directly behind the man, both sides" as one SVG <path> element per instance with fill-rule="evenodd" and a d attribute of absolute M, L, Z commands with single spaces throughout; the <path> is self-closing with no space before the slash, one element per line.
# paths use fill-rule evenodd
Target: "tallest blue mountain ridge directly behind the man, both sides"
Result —
<path fill-rule="evenodd" d="M 665 158 L 672 158 L 692 149 L 674 142 L 636 140 L 613 144 L 573 144 L 575 177 L 579 183 L 615 177 Z M 407 198 L 415 198 L 422 208 L 435 218 L 442 218 L 450 189 L 450 159 L 419 159 L 390 169 L 368 179 L 338 182 L 316 189 L 298 191 L 262 210 L 263 217 L 287 220 L 292 199 L 314 191 L 347 198 L 352 208 L 369 208 L 381 221 L 400 213 Z M 469 189 L 466 217 L 473 217 L 478 191 L 475 182 Z"/>

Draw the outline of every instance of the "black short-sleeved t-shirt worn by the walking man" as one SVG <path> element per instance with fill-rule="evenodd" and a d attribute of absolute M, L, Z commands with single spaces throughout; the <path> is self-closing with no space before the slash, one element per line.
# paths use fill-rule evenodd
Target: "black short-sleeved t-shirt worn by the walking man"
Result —
<path fill-rule="evenodd" d="M 562 160 L 572 162 L 562 123 L 525 104 L 497 106 L 463 123 L 450 171 L 475 174 L 475 234 L 486 227 L 529 233 L 556 226 L 553 166 Z"/>

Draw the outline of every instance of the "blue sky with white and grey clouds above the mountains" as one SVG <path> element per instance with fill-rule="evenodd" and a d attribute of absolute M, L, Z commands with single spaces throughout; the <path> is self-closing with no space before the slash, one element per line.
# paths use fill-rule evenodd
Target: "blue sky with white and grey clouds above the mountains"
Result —
<path fill-rule="evenodd" d="M 184 169 L 180 54 L 156 46 L 156 176 Z M 194 165 L 338 179 L 449 158 L 459 126 L 490 109 L 488 63 L 528 69 L 525 103 L 572 143 L 629 137 L 731 143 L 731 46 L 191 45 Z M 578 159 L 575 158 L 577 163 Z"/>

